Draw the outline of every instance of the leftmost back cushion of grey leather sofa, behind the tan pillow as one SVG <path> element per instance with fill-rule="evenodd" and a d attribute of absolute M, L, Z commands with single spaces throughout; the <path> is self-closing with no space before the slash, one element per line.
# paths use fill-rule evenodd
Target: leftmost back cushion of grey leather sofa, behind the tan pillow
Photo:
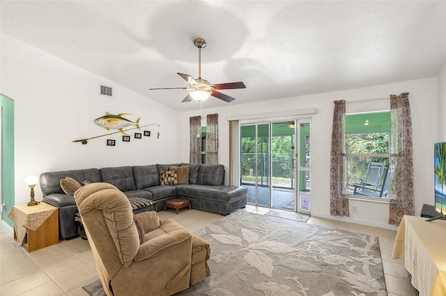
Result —
<path fill-rule="evenodd" d="M 84 180 L 90 180 L 93 183 L 100 182 L 100 174 L 99 170 L 85 169 L 85 170 L 66 170 L 66 171 L 58 171 L 58 172 L 44 172 L 40 174 L 40 189 L 42 190 L 43 197 L 46 195 L 51 195 L 52 193 L 62 193 L 64 194 L 61 188 L 61 179 L 69 176 L 72 179 L 75 179 L 79 183 Z"/>

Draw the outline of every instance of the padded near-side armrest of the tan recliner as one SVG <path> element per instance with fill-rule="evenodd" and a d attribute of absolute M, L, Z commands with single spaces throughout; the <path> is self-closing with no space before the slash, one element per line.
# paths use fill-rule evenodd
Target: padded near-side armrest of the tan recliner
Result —
<path fill-rule="evenodd" d="M 176 230 L 169 233 L 164 233 L 161 236 L 157 236 L 151 240 L 144 242 L 139 246 L 137 256 L 134 257 L 134 261 L 146 260 L 156 256 L 164 249 L 169 249 L 178 245 L 186 240 L 190 241 L 190 248 L 192 248 L 192 236 L 188 231 Z"/>

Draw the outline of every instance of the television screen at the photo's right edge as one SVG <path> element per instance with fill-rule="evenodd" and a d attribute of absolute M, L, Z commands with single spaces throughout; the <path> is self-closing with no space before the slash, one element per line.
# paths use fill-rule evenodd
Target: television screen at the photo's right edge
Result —
<path fill-rule="evenodd" d="M 446 142 L 434 145 L 435 208 L 438 213 L 446 210 Z"/>

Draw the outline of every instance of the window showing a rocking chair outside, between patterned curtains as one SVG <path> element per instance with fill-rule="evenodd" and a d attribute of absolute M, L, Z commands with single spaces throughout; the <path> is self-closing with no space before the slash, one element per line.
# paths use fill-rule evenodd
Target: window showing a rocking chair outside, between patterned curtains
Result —
<path fill-rule="evenodd" d="M 390 112 L 346 115 L 346 194 L 389 198 Z"/>

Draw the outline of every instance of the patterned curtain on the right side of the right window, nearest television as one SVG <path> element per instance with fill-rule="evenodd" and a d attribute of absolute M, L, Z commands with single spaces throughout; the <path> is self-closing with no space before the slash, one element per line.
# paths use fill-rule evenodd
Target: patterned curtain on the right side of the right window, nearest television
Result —
<path fill-rule="evenodd" d="M 390 95 L 390 213 L 389 224 L 415 213 L 413 197 L 412 120 L 409 93 Z"/>

